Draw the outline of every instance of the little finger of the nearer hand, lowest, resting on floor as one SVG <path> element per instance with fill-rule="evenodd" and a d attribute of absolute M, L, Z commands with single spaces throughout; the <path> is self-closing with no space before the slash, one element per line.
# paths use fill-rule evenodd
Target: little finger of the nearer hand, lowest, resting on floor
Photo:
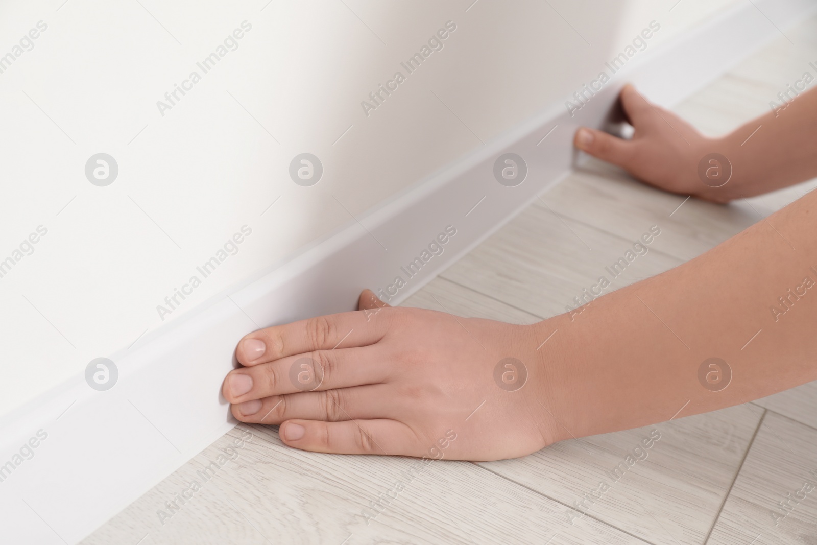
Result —
<path fill-rule="evenodd" d="M 319 453 L 417 455 L 417 435 L 403 422 L 390 419 L 320 422 L 288 420 L 279 429 L 291 447 Z"/>

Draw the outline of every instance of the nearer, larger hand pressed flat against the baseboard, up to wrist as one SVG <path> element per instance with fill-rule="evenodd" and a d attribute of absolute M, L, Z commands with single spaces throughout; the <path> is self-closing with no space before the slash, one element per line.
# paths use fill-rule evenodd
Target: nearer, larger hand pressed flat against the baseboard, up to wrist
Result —
<path fill-rule="evenodd" d="M 324 453 L 496 460 L 560 439 L 536 325 L 394 308 L 368 290 L 359 308 L 244 337 L 222 387 L 234 417 Z M 494 380 L 508 357 L 524 362 L 521 387 L 514 365 Z"/>

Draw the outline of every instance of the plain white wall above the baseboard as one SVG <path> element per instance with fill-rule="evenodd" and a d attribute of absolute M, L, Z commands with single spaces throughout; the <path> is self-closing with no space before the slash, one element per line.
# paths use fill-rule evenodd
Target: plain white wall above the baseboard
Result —
<path fill-rule="evenodd" d="M 157 305 L 202 279 L 196 266 L 242 226 L 239 252 L 167 319 L 563 108 L 650 21 L 654 48 L 734 4 L 345 2 L 0 5 L 0 55 L 47 25 L 0 74 L 0 260 L 47 229 L 0 278 L 0 414 L 163 324 Z M 203 74 L 197 61 L 245 20 L 238 48 Z M 408 74 L 400 61 L 449 20 L 443 49 Z M 160 114 L 193 70 L 201 81 Z M 406 81 L 365 115 L 395 71 Z M 84 173 L 99 152 L 118 163 L 106 187 Z M 301 152 L 324 165 L 312 187 L 288 177 Z"/>

